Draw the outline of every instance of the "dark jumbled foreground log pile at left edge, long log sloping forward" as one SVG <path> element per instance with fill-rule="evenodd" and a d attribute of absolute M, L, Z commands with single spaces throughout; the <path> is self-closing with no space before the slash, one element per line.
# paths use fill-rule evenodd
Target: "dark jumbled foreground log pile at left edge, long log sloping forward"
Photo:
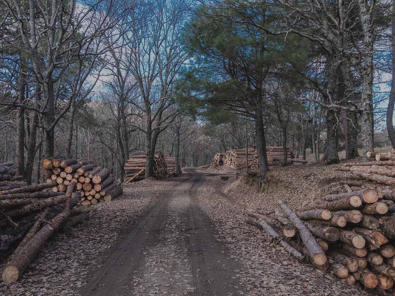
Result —
<path fill-rule="evenodd" d="M 0 167 L 8 166 L 9 172 L 11 165 L 2 163 Z M 17 281 L 56 230 L 87 217 L 86 211 L 74 208 L 80 199 L 75 182 L 70 182 L 65 192 L 49 191 L 55 185 L 56 181 L 16 184 L 0 191 L 0 253 L 17 246 L 2 272 L 3 281 Z"/>

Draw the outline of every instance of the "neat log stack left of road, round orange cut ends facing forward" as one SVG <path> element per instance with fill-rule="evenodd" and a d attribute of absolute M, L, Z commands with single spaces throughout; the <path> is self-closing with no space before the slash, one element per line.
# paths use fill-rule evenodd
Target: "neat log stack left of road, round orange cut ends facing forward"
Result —
<path fill-rule="evenodd" d="M 41 165 L 47 183 L 55 182 L 53 192 L 65 192 L 66 186 L 75 182 L 84 206 L 110 201 L 123 193 L 122 182 L 115 180 L 109 169 L 98 167 L 93 161 L 55 156 L 44 159 Z"/>

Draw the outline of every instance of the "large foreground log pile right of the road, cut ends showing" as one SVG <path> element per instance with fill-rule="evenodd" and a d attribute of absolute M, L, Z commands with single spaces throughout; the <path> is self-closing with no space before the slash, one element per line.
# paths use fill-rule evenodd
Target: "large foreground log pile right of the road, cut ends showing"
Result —
<path fill-rule="evenodd" d="M 279 240 L 297 259 L 332 271 L 350 284 L 358 281 L 388 295 L 395 277 L 393 196 L 367 188 L 344 188 L 346 192 L 326 195 L 300 212 L 293 212 L 281 200 L 282 211 L 245 210 L 250 216 L 246 221 Z"/>

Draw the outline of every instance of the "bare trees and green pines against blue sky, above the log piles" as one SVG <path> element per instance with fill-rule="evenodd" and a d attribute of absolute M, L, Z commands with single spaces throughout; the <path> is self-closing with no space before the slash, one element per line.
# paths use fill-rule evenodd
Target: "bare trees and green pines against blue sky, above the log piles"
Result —
<path fill-rule="evenodd" d="M 265 146 L 337 163 L 395 144 L 393 2 L 0 4 L 0 158 L 29 183 L 56 154 L 123 178 L 134 151 L 150 176 L 155 150 L 197 167 L 254 146 L 264 175 Z"/>

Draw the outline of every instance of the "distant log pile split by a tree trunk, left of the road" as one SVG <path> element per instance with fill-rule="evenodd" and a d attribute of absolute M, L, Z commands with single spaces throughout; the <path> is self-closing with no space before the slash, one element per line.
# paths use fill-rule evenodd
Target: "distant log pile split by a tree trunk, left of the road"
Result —
<path fill-rule="evenodd" d="M 125 163 L 126 183 L 136 182 L 145 179 L 145 151 L 137 151 L 130 154 L 130 159 Z M 155 151 L 154 154 L 154 174 L 153 177 L 160 180 L 169 178 L 166 160 L 162 152 Z"/>

